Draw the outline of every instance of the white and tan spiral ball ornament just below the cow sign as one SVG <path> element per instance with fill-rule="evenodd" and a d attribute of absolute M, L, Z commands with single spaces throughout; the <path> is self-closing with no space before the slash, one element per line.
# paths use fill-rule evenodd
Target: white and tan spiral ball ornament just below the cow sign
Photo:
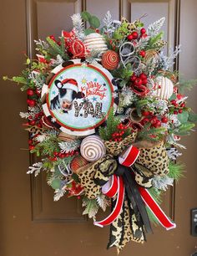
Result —
<path fill-rule="evenodd" d="M 99 136 L 88 136 L 83 139 L 80 152 L 87 161 L 97 161 L 106 153 L 104 141 Z"/>

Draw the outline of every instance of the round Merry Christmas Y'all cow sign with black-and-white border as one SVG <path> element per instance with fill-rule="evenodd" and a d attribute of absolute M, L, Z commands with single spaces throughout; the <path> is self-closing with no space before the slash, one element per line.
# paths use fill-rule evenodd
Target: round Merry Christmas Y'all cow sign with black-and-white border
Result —
<path fill-rule="evenodd" d="M 100 64 L 72 62 L 53 69 L 50 83 L 43 85 L 43 111 L 61 131 L 87 136 L 104 122 L 114 104 L 113 77 Z"/>

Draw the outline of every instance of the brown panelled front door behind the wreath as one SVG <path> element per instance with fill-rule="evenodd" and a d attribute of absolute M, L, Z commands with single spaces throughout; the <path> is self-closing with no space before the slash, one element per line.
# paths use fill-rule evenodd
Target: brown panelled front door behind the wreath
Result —
<path fill-rule="evenodd" d="M 182 44 L 180 73 L 197 78 L 195 32 L 196 0 L 2 0 L 1 76 L 12 76 L 23 69 L 23 52 L 33 57 L 33 39 L 58 36 L 72 27 L 70 16 L 88 10 L 104 17 L 108 10 L 114 19 L 122 15 L 129 20 L 144 13 L 148 24 L 165 16 L 164 31 L 168 50 Z M 23 131 L 18 113 L 26 110 L 26 95 L 12 83 L 1 80 L 1 171 L 0 171 L 0 255 L 1 256 L 64 256 L 115 255 L 106 249 L 109 228 L 94 227 L 82 215 L 80 201 L 63 198 L 53 202 L 53 191 L 45 177 L 34 179 L 26 172 L 29 165 L 28 134 Z M 197 110 L 197 90 L 189 93 L 189 104 Z M 182 161 L 186 163 L 184 178 L 164 196 L 162 207 L 175 219 L 177 228 L 165 231 L 154 228 L 148 243 L 129 243 L 121 255 L 186 256 L 197 248 L 190 236 L 190 209 L 197 207 L 196 138 L 186 138 Z"/>

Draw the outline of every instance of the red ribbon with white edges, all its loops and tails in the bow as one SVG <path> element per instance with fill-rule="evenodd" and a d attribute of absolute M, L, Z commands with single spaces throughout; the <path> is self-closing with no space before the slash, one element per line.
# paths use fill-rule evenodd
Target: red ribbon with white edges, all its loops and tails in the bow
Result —
<path fill-rule="evenodd" d="M 129 146 L 128 150 L 124 152 L 122 156 L 119 156 L 119 163 L 123 166 L 132 166 L 139 156 L 139 149 L 135 146 Z M 122 177 L 117 177 L 113 175 L 110 177 L 109 182 L 107 182 L 104 187 L 102 187 L 102 192 L 108 197 L 114 197 L 117 194 L 117 200 L 113 212 L 109 217 L 105 218 L 103 221 L 94 222 L 94 225 L 99 227 L 104 227 L 113 223 L 116 218 L 119 217 L 121 212 L 123 202 L 124 202 L 124 182 Z M 176 224 L 173 223 L 159 207 L 159 204 L 154 201 L 154 198 L 150 195 L 147 189 L 144 187 L 139 187 L 139 192 L 143 198 L 145 204 L 149 207 L 150 211 L 153 212 L 155 218 L 158 219 L 159 223 L 167 230 L 171 228 L 176 228 Z"/>

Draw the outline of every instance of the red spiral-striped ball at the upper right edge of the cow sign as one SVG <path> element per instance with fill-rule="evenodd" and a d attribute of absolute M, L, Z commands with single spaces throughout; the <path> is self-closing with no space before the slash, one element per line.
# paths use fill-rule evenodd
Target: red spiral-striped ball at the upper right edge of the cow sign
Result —
<path fill-rule="evenodd" d="M 119 65 L 119 54 L 109 50 L 102 55 L 101 64 L 105 69 L 114 70 Z"/>

